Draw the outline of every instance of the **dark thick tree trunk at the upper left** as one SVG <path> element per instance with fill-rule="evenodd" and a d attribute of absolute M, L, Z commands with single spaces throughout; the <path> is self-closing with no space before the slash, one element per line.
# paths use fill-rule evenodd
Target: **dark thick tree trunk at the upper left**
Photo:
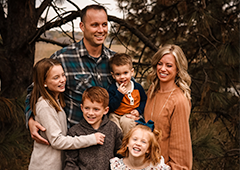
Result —
<path fill-rule="evenodd" d="M 28 42 L 37 28 L 35 0 L 8 0 L 6 27 L 5 62 L 0 64 L 1 93 L 16 98 L 32 82 L 35 43 Z"/>

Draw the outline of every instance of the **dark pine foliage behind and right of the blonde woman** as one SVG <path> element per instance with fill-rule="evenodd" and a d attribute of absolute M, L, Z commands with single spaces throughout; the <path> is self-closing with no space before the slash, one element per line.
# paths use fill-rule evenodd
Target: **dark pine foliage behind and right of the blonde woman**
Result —
<path fill-rule="evenodd" d="M 193 169 L 240 167 L 240 1 L 118 0 L 126 21 L 156 46 L 182 47 L 192 77 Z M 128 29 L 111 36 L 134 56 L 136 80 L 145 84 L 155 51 Z M 136 69 L 137 68 L 137 69 Z"/>

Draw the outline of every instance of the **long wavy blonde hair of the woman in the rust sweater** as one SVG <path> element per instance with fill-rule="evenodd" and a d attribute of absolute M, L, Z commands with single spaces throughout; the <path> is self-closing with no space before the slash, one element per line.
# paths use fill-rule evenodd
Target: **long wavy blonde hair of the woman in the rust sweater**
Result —
<path fill-rule="evenodd" d="M 174 44 L 164 45 L 154 54 L 152 58 L 152 72 L 149 74 L 149 79 L 152 84 L 149 89 L 149 98 L 154 97 L 156 92 L 160 89 L 160 80 L 157 76 L 157 64 L 166 54 L 172 54 L 174 56 L 178 71 L 175 83 L 183 91 L 187 99 L 191 100 L 191 77 L 187 72 L 188 62 L 182 49 Z"/>

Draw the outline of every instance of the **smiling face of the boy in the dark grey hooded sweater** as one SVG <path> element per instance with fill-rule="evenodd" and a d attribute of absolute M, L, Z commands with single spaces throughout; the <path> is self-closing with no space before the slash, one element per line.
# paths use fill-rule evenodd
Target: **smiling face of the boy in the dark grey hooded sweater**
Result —
<path fill-rule="evenodd" d="M 98 129 L 103 115 L 108 113 L 109 107 L 104 108 L 102 103 L 92 102 L 86 98 L 81 104 L 84 119 L 94 128 Z"/>

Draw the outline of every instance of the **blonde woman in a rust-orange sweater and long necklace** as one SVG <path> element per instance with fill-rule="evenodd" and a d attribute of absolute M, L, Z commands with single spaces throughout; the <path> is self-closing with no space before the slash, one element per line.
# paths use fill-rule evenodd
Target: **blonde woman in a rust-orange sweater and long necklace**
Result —
<path fill-rule="evenodd" d="M 192 168 L 192 145 L 189 129 L 191 110 L 188 62 L 179 46 L 165 45 L 152 59 L 144 117 L 162 130 L 159 144 L 165 163 L 172 170 Z"/>

